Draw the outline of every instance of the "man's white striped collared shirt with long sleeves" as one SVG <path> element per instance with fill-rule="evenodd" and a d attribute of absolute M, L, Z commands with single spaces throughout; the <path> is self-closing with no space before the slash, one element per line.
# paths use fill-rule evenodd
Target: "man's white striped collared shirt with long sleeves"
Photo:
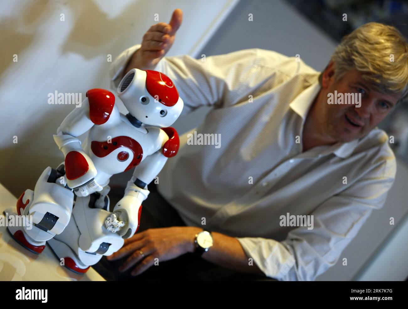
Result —
<path fill-rule="evenodd" d="M 113 89 L 139 47 L 112 63 Z M 266 276 L 315 280 L 384 205 L 396 161 L 383 130 L 302 153 L 304 121 L 320 89 L 319 72 L 302 60 L 246 49 L 205 62 L 164 57 L 155 70 L 177 87 L 183 114 L 214 106 L 180 136 L 178 154 L 159 174 L 160 194 L 186 225 L 237 238 Z M 220 147 L 188 144 L 194 131 L 219 136 Z M 308 215 L 309 225 L 282 226 L 291 215 Z"/>

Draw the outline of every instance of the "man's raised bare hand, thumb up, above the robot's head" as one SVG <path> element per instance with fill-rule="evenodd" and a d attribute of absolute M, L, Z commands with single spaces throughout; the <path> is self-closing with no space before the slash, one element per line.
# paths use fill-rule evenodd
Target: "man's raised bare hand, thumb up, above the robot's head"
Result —
<path fill-rule="evenodd" d="M 159 22 L 143 35 L 140 49 L 135 51 L 123 70 L 125 75 L 132 68 L 153 70 L 173 45 L 175 34 L 183 20 L 183 11 L 175 9 L 169 24 Z"/>

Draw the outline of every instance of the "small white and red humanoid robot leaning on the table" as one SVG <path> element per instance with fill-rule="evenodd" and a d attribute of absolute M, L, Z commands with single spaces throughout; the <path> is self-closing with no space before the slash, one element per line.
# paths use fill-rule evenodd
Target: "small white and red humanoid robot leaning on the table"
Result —
<path fill-rule="evenodd" d="M 32 216 L 31 228 L 9 226 L 11 236 L 37 254 L 47 242 L 64 266 L 77 273 L 118 251 L 124 238 L 137 232 L 147 184 L 180 145 L 170 126 L 184 103 L 169 77 L 134 68 L 116 91 L 129 113 L 119 112 L 110 91 L 88 90 L 82 106 L 53 135 L 64 162 L 56 169 L 47 167 L 34 191 L 25 190 L 16 207 L 4 212 L 8 217 Z M 77 137 L 85 132 L 81 145 Z M 109 179 L 131 168 L 124 196 L 110 212 Z"/>

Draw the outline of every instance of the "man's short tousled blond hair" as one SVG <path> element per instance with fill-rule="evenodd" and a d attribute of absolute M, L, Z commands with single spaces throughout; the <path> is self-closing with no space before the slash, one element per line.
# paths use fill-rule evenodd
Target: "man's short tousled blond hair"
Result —
<path fill-rule="evenodd" d="M 408 41 L 397 28 L 378 22 L 359 26 L 341 39 L 330 60 L 335 62 L 336 81 L 356 69 L 376 91 L 388 95 L 401 93 L 398 102 L 406 101 Z M 319 75 L 320 85 L 326 68 Z"/>

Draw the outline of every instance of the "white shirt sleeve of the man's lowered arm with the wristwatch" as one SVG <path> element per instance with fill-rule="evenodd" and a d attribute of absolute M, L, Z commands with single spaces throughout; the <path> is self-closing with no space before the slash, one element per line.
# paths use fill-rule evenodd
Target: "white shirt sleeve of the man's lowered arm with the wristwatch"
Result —
<path fill-rule="evenodd" d="M 384 205 L 395 173 L 395 157 L 377 164 L 311 213 L 313 229 L 297 227 L 288 232 L 284 241 L 236 238 L 266 276 L 277 280 L 315 280 L 337 263 L 371 212 Z"/>

